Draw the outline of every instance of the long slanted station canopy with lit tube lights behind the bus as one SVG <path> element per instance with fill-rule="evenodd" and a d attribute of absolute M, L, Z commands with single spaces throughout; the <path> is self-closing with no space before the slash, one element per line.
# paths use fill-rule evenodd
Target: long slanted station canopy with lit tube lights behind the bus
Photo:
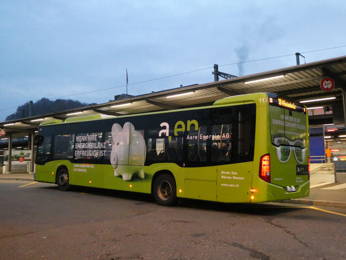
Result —
<path fill-rule="evenodd" d="M 281 77 L 272 78 L 277 76 Z M 324 78 L 331 78 L 335 82 L 334 88 L 328 92 L 322 90 L 320 87 L 321 80 Z M 0 129 L 4 129 L 7 133 L 11 133 L 12 138 L 27 136 L 28 134 L 33 134 L 40 123 L 48 120 L 65 120 L 73 116 L 92 114 L 120 116 L 184 109 L 188 107 L 211 105 L 216 100 L 228 96 L 257 92 L 278 93 L 294 97 L 298 99 L 298 101 L 335 97 L 331 100 L 310 102 L 309 106 L 333 107 L 335 104 L 343 104 L 342 107 L 345 111 L 345 98 L 343 98 L 343 96 L 345 96 L 345 90 L 346 56 L 343 56 L 206 84 L 162 90 L 144 95 L 122 95 L 125 99 L 80 107 L 73 110 L 0 122 Z M 331 118 L 330 115 L 329 117 Z M 326 118 L 324 120 L 326 120 Z M 319 122 L 323 121 L 319 120 Z"/>

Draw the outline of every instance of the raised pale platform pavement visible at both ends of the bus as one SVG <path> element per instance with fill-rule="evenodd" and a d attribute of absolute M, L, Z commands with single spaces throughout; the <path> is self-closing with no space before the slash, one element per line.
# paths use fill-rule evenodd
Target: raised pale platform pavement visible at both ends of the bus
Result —
<path fill-rule="evenodd" d="M 309 197 L 276 202 L 346 208 L 346 173 L 337 173 L 336 175 L 337 182 L 335 183 L 319 183 L 311 187 Z M 34 181 L 34 175 L 25 173 L 0 174 L 0 180 Z"/>

